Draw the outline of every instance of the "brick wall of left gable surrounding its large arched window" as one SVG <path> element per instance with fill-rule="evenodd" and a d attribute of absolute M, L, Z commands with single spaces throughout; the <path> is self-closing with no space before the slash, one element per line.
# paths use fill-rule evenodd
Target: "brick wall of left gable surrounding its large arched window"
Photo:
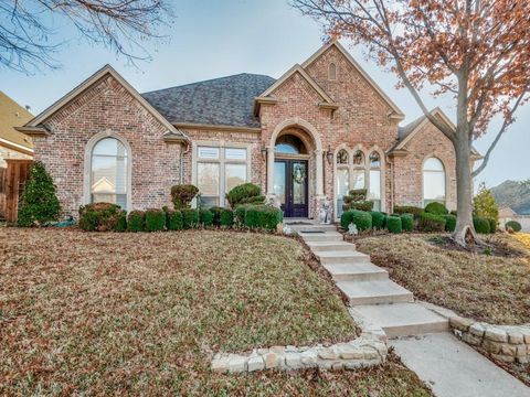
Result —
<path fill-rule="evenodd" d="M 180 181 L 180 144 L 166 143 L 166 128 L 110 76 L 95 83 L 45 121 L 47 138 L 34 138 L 35 159 L 45 163 L 65 214 L 83 204 L 85 147 L 96 133 L 124 137 L 132 157 L 132 207 L 161 207 Z"/>

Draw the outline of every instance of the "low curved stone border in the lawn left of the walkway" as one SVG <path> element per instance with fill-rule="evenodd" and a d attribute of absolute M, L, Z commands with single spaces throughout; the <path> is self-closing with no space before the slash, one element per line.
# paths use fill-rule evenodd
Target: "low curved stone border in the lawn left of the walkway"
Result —
<path fill-rule="evenodd" d="M 389 347 L 384 331 L 370 323 L 354 309 L 350 315 L 361 329 L 361 335 L 350 342 L 325 346 L 273 346 L 254 348 L 252 352 L 234 354 L 218 353 L 212 360 L 216 373 L 244 373 L 263 369 L 354 369 L 379 365 L 386 361 Z"/>

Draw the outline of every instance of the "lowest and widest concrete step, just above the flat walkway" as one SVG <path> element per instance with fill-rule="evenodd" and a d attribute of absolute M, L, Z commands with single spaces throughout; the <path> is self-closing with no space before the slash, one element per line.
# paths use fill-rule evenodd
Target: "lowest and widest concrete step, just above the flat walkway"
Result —
<path fill-rule="evenodd" d="M 448 331 L 447 319 L 418 303 L 357 305 L 361 314 L 381 325 L 386 336 L 415 336 Z"/>

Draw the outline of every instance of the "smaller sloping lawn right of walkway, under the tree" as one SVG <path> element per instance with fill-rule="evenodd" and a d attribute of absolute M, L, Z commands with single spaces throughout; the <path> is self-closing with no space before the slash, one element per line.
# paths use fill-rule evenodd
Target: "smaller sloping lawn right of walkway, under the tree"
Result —
<path fill-rule="evenodd" d="M 484 239 L 489 247 L 475 253 L 455 249 L 447 235 L 384 235 L 356 244 L 418 299 L 479 321 L 530 322 L 530 247 L 507 234 Z"/>

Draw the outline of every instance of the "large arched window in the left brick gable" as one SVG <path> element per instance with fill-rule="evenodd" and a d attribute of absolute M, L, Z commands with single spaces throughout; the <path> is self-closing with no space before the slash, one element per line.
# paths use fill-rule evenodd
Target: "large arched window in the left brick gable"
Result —
<path fill-rule="evenodd" d="M 91 202 L 118 204 L 127 210 L 127 148 L 116 138 L 103 138 L 92 149 Z"/>

